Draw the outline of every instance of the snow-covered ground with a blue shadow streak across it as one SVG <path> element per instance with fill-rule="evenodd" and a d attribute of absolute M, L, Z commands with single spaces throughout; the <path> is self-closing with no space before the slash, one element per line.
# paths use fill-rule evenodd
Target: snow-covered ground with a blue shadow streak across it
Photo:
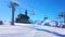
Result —
<path fill-rule="evenodd" d="M 0 37 L 65 37 L 65 28 L 20 23 L 12 26 L 5 23 L 0 25 Z"/>

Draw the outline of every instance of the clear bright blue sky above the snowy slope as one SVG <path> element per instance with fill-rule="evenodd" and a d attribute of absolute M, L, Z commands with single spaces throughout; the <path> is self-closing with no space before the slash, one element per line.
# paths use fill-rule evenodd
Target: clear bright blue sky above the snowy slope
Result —
<path fill-rule="evenodd" d="M 0 0 L 0 20 L 11 21 L 11 9 L 9 8 L 11 0 Z M 20 7 L 16 8 L 15 17 L 17 14 L 28 10 L 30 20 L 43 20 L 44 16 L 50 20 L 55 20 L 60 12 L 65 11 L 65 0 L 16 0 Z M 30 13 L 35 12 L 35 15 Z"/>

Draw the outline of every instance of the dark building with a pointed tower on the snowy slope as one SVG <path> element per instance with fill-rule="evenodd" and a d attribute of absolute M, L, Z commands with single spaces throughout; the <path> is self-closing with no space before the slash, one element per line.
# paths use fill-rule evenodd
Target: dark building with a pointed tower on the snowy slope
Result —
<path fill-rule="evenodd" d="M 15 20 L 16 23 L 29 23 L 29 16 L 27 15 L 27 10 L 25 14 L 20 13 Z"/>

